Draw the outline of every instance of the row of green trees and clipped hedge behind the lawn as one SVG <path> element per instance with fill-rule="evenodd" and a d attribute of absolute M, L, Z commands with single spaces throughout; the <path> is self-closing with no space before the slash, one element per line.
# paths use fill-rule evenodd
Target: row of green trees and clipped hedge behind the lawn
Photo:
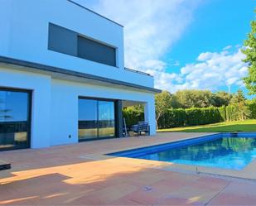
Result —
<path fill-rule="evenodd" d="M 164 105 L 164 107 L 162 105 Z M 198 110 L 198 108 L 208 108 L 208 110 Z M 224 109 L 224 112 L 221 112 L 223 110 L 222 108 Z M 239 89 L 237 93 L 227 93 L 224 91 L 212 93 L 209 90 L 196 89 L 181 90 L 174 94 L 163 91 L 162 93 L 158 93 L 156 95 L 157 126 L 160 126 L 159 123 L 161 122 L 161 117 L 163 117 L 166 113 L 171 113 L 171 109 L 176 111 L 176 113 L 182 113 L 181 111 L 186 113 L 186 115 L 183 115 L 184 119 L 182 120 L 185 123 L 180 126 L 198 125 L 254 118 L 256 115 L 256 100 L 255 98 L 253 100 L 246 99 L 241 89 Z M 209 111 L 211 112 L 208 113 Z M 218 117 L 215 117 L 215 114 L 211 114 L 213 111 L 219 114 L 223 113 L 223 116 L 217 115 Z M 187 119 L 193 116 L 195 116 L 194 118 L 197 117 L 195 113 L 197 113 L 198 117 L 205 117 L 205 114 L 208 114 L 208 116 L 206 115 L 207 117 L 205 117 L 205 121 L 199 121 L 200 123 L 198 121 L 196 123 L 196 120 L 190 121 L 192 123 L 186 123 L 188 122 L 186 121 Z"/>

